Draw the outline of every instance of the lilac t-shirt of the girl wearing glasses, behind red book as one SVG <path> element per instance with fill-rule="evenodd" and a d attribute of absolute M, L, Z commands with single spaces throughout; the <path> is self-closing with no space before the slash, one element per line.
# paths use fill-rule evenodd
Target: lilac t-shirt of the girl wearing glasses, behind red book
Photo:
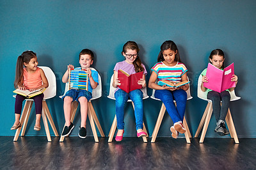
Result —
<path fill-rule="evenodd" d="M 141 63 L 141 65 L 142 65 L 143 68 L 144 68 L 143 74 L 147 75 L 147 70 L 146 70 L 146 68 L 145 68 L 145 65 L 143 65 L 142 63 Z M 121 62 L 116 63 L 115 68 L 114 68 L 114 71 L 118 72 L 118 70 L 120 70 L 120 69 L 124 70 L 125 72 L 129 73 L 130 75 L 131 75 L 132 73 L 136 73 L 135 70 L 134 70 L 134 65 L 129 64 L 129 63 L 127 63 L 126 61 L 121 61 Z M 119 88 L 116 88 L 115 91 L 117 91 L 118 89 L 119 89 Z"/>

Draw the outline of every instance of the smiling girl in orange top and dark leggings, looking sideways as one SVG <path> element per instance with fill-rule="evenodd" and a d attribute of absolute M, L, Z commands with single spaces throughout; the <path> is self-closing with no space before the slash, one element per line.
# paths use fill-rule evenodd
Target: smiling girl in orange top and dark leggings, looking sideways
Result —
<path fill-rule="evenodd" d="M 14 86 L 15 88 L 19 88 L 22 90 L 28 89 L 29 91 L 35 91 L 40 88 L 47 88 L 48 81 L 45 77 L 44 71 L 41 68 L 37 67 L 38 61 L 36 58 L 36 53 L 27 50 L 23 52 L 17 59 L 16 65 L 16 75 Z M 42 100 L 44 98 L 44 93 L 40 95 L 36 95 L 32 97 L 35 102 L 36 109 L 36 123 L 34 130 L 39 131 L 40 127 L 40 119 L 42 114 Z M 15 130 L 21 127 L 20 124 L 20 114 L 22 109 L 22 102 L 26 99 L 26 97 L 17 94 L 15 98 L 15 123 L 11 130 Z"/>

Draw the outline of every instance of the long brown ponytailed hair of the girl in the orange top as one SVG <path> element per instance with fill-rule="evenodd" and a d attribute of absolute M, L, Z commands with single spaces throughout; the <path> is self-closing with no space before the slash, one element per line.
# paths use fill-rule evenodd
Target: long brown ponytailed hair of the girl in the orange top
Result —
<path fill-rule="evenodd" d="M 16 64 L 16 72 L 15 72 L 15 80 L 14 80 L 14 87 L 17 88 L 18 85 L 21 86 L 23 84 L 23 67 L 24 63 L 29 63 L 29 61 L 32 58 L 36 58 L 36 53 L 27 50 L 23 52 L 17 59 L 17 64 Z"/>

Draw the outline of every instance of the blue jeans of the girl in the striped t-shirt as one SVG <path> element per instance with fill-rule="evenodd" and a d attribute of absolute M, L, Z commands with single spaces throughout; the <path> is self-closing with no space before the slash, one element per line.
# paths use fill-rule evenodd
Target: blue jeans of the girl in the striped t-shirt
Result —
<path fill-rule="evenodd" d="M 176 89 L 174 91 L 157 89 L 155 97 L 162 100 L 173 123 L 183 121 L 188 98 L 186 91 L 183 89 Z M 175 107 L 173 100 L 176 101 L 177 107 Z"/>

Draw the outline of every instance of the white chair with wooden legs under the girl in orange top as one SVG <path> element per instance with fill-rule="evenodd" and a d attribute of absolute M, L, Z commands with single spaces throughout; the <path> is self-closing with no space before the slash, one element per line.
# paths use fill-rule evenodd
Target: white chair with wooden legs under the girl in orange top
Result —
<path fill-rule="evenodd" d="M 48 106 L 47 106 L 45 100 L 56 96 L 56 77 L 55 77 L 54 73 L 52 72 L 51 68 L 49 68 L 47 66 L 38 66 L 38 67 L 42 68 L 42 70 L 44 70 L 45 76 L 49 83 L 48 88 L 46 88 L 44 91 L 44 100 L 43 100 L 43 107 L 42 107 L 42 120 L 44 121 L 44 127 L 45 127 L 45 132 L 47 135 L 47 140 L 48 140 L 48 142 L 51 142 L 51 134 L 50 134 L 49 126 L 47 123 L 47 118 L 49 120 L 49 123 L 51 124 L 54 135 L 56 135 L 56 136 L 59 136 L 59 135 L 58 135 L 58 132 L 57 132 L 54 122 L 52 120 L 51 113 L 48 109 Z M 16 97 L 16 95 L 13 97 Z M 24 136 L 26 127 L 28 125 L 28 119 L 29 119 L 29 115 L 31 112 L 31 107 L 33 105 L 33 101 L 34 101 L 33 99 L 26 99 L 26 103 L 24 105 L 22 114 L 20 116 L 20 124 L 23 127 L 22 132 L 20 134 L 21 127 L 17 128 L 13 141 L 18 140 L 19 134 L 21 136 Z M 47 116 L 47 118 L 45 115 Z"/>

